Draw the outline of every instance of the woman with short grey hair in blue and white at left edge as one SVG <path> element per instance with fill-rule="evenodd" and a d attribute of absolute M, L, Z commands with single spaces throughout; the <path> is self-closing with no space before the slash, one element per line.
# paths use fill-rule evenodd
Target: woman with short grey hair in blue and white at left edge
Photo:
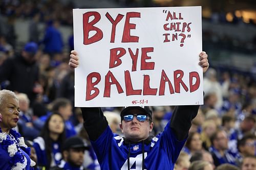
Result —
<path fill-rule="evenodd" d="M 35 162 L 29 157 L 30 148 L 24 138 L 13 128 L 19 119 L 19 103 L 16 94 L 0 90 L 0 169 L 33 169 Z"/>

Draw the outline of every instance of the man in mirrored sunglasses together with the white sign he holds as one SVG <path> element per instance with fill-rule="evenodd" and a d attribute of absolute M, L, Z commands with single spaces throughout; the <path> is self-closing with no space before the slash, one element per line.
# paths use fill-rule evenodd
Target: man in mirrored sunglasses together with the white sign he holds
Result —
<path fill-rule="evenodd" d="M 173 169 L 203 104 L 201 7 L 74 9 L 73 18 L 75 106 L 101 169 Z M 152 137 L 148 106 L 158 105 L 183 106 Z M 121 111 L 124 138 L 112 133 L 104 106 L 129 106 Z"/>

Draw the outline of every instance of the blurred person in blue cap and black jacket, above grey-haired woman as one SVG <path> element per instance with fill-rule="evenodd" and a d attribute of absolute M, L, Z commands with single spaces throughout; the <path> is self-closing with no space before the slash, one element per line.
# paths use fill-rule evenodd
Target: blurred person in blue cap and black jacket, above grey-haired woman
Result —
<path fill-rule="evenodd" d="M 42 87 L 38 85 L 39 67 L 35 57 L 37 51 L 37 44 L 28 42 L 19 55 L 8 58 L 0 66 L 0 83 L 6 82 L 4 88 L 26 93 L 32 103 L 36 94 L 42 92 Z"/>

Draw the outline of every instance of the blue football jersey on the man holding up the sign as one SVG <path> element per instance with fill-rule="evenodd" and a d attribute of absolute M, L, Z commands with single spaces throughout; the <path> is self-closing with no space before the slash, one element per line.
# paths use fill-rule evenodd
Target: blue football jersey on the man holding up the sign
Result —
<path fill-rule="evenodd" d="M 110 127 L 106 128 L 96 141 L 91 141 L 101 170 L 127 170 L 129 147 L 130 169 L 142 169 L 143 147 L 144 169 L 173 169 L 186 139 L 179 141 L 169 124 L 149 143 L 125 144 L 122 137 L 113 134 Z"/>

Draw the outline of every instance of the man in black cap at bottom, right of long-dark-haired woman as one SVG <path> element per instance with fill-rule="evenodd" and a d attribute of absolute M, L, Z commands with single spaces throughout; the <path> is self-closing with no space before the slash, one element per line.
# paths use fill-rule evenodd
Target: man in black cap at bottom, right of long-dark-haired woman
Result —
<path fill-rule="evenodd" d="M 73 136 L 65 140 L 62 147 L 62 156 L 58 167 L 65 170 L 86 170 L 82 167 L 84 151 L 88 149 L 80 137 Z"/>

